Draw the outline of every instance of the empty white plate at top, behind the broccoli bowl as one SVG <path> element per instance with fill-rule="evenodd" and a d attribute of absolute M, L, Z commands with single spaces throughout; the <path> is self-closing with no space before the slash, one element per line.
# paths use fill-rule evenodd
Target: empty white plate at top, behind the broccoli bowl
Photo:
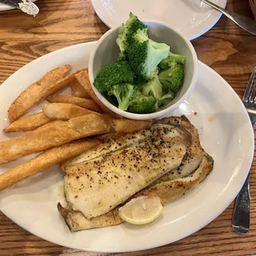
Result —
<path fill-rule="evenodd" d="M 227 0 L 211 0 L 225 7 Z M 92 0 L 97 16 L 108 26 L 120 26 L 129 12 L 144 21 L 164 21 L 189 40 L 209 31 L 221 14 L 200 0 Z"/>

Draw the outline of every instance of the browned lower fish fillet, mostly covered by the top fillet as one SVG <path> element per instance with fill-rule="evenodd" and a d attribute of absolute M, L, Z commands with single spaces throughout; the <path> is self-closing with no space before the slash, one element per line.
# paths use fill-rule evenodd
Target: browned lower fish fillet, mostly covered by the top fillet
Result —
<path fill-rule="evenodd" d="M 184 156 L 182 164 L 134 196 L 159 197 L 162 204 L 165 204 L 182 197 L 201 183 L 211 173 L 213 159 L 201 148 L 197 129 L 185 116 L 168 117 L 157 121 L 157 123 L 178 126 L 192 135 L 192 143 L 187 147 L 187 154 Z M 134 197 L 129 198 L 128 201 Z M 118 209 L 121 206 L 116 206 L 112 211 L 90 220 L 85 218 L 80 211 L 74 211 L 69 204 L 66 207 L 58 204 L 58 209 L 69 226 L 69 230 L 78 231 L 121 224 L 123 220 L 118 214 Z"/>

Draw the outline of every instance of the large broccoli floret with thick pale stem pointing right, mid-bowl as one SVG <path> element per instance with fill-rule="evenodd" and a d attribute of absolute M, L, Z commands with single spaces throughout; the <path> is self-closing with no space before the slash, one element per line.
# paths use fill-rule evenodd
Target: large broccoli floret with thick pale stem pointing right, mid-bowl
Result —
<path fill-rule="evenodd" d="M 158 73 L 157 66 L 167 58 L 170 47 L 149 39 L 147 29 L 136 31 L 127 48 L 131 68 L 139 80 L 149 80 Z"/>

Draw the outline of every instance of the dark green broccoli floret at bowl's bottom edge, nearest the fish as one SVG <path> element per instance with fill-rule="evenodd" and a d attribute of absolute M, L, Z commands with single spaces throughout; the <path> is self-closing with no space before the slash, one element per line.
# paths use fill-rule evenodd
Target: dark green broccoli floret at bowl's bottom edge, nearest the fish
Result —
<path fill-rule="evenodd" d="M 148 114 L 155 111 L 157 99 L 153 96 L 145 96 L 137 91 L 130 98 L 128 111 L 136 114 Z"/>

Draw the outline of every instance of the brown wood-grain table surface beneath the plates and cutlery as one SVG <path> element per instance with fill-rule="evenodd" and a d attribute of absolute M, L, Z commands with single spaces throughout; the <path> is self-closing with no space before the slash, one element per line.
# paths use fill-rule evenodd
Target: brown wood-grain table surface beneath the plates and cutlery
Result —
<path fill-rule="evenodd" d="M 230 11 L 253 17 L 247 0 L 228 0 Z M 88 0 L 40 0 L 40 15 L 18 11 L 0 13 L 0 83 L 33 59 L 53 50 L 99 39 L 107 31 Z M 211 66 L 243 95 L 256 65 L 256 36 L 232 21 L 220 21 L 204 36 L 192 41 L 198 58 Z M 256 254 L 256 162 L 251 173 L 251 231 L 244 237 L 231 229 L 233 203 L 216 220 L 196 234 L 176 243 L 123 255 L 252 255 Z M 107 255 L 92 254 L 51 244 L 22 230 L 0 213 L 0 255 Z M 110 254 L 108 254 L 110 255 Z"/>

